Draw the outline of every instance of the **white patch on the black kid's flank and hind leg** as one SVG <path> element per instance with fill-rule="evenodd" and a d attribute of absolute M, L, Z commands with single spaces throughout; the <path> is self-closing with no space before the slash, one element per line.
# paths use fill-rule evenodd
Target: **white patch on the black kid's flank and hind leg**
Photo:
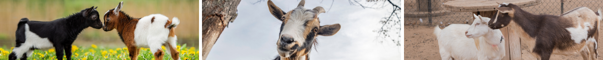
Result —
<path fill-rule="evenodd" d="M 52 43 L 48 38 L 42 38 L 36 33 L 30 31 L 30 25 L 25 24 L 25 43 L 22 43 L 19 47 L 14 47 L 13 52 L 16 54 L 17 59 L 21 58 L 23 53 L 28 53 L 28 56 L 31 56 L 33 50 L 31 48 L 36 49 L 49 49 L 52 46 Z"/>

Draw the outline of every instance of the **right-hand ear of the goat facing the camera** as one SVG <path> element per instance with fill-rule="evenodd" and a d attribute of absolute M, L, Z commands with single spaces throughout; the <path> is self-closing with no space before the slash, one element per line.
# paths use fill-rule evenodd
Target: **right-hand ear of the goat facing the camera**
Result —
<path fill-rule="evenodd" d="M 339 31 L 340 28 L 341 28 L 341 26 L 339 25 L 339 23 L 336 23 L 333 25 L 320 26 L 320 30 L 318 30 L 318 35 L 323 35 L 323 36 L 335 35 Z"/>

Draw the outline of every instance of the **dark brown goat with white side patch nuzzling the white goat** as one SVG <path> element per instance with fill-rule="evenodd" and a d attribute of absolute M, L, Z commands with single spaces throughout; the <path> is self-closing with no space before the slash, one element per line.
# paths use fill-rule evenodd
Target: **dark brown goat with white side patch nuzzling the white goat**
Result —
<path fill-rule="evenodd" d="M 597 40 L 601 10 L 594 12 L 578 7 L 559 16 L 535 15 L 514 4 L 499 4 L 499 10 L 488 22 L 492 29 L 512 26 L 529 43 L 532 56 L 548 60 L 551 54 L 574 55 L 580 53 L 585 60 L 597 59 Z M 523 39 L 525 38 L 525 39 Z M 531 44 L 531 45 L 530 45 Z"/>

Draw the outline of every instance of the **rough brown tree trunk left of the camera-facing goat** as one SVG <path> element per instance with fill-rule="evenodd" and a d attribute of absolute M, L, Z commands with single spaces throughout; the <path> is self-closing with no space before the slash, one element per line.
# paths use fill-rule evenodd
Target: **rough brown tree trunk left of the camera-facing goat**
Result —
<path fill-rule="evenodd" d="M 202 0 L 201 14 L 201 60 L 205 60 L 229 22 L 234 22 L 236 7 L 241 0 Z"/>

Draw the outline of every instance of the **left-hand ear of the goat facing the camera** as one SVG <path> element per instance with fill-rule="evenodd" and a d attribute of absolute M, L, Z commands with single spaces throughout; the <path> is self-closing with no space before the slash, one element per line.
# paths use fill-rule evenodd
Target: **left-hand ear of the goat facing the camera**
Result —
<path fill-rule="evenodd" d="M 286 14 L 285 11 L 280 10 L 280 8 L 276 7 L 270 0 L 268 0 L 268 10 L 270 10 L 270 13 L 272 13 L 272 16 L 276 17 L 276 19 L 279 19 L 280 21 L 285 20 L 283 19 L 283 16 Z"/>

